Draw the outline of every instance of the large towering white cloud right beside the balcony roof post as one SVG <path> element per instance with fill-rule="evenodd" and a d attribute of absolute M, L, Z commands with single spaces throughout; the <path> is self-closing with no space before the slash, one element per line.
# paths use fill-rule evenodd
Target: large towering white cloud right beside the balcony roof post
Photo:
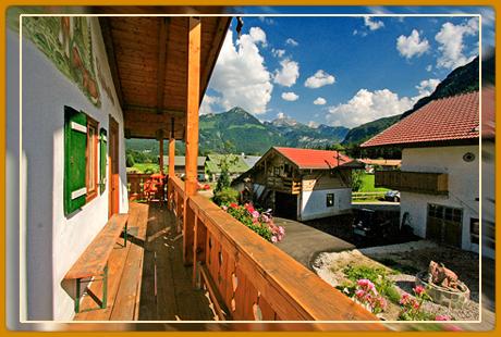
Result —
<path fill-rule="evenodd" d="M 257 42 L 266 41 L 266 34 L 260 28 L 250 30 L 253 34 L 243 34 L 236 45 L 233 43 L 233 32 L 228 32 L 210 88 L 221 95 L 219 104 L 224 109 L 237 105 L 260 114 L 267 111 L 273 85 L 257 46 Z"/>

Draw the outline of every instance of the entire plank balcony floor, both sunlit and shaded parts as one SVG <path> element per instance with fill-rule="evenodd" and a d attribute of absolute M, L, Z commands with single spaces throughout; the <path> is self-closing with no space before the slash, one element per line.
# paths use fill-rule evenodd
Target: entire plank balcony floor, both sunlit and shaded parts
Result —
<path fill-rule="evenodd" d="M 108 307 L 81 312 L 75 321 L 212 321 L 209 300 L 183 264 L 183 237 L 166 205 L 131 202 L 129 228 L 127 246 L 119 238 L 108 261 Z M 102 283 L 90 289 L 102 294 Z M 86 297 L 81 307 L 96 303 Z"/>

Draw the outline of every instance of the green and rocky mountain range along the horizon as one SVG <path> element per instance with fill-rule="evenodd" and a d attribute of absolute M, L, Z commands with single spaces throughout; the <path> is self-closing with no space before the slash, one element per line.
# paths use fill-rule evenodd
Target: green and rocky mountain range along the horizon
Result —
<path fill-rule="evenodd" d="M 491 59 L 482 61 L 482 68 L 488 65 L 493 72 Z M 471 63 L 452 71 L 430 96 L 419 99 L 411 110 L 352 129 L 323 124 L 308 126 L 285 115 L 271 122 L 260 122 L 239 107 L 227 112 L 200 115 L 199 152 L 200 154 L 210 152 L 262 154 L 272 146 L 296 148 L 325 148 L 334 143 L 357 146 L 431 100 L 478 90 L 478 66 L 479 59 L 476 58 Z M 487 73 L 489 73 L 488 70 Z M 126 147 L 139 151 L 142 149 L 158 151 L 158 142 L 155 140 L 152 142 L 151 140 L 127 139 Z M 178 150 L 179 154 L 183 154 L 184 147 L 179 147 Z"/>

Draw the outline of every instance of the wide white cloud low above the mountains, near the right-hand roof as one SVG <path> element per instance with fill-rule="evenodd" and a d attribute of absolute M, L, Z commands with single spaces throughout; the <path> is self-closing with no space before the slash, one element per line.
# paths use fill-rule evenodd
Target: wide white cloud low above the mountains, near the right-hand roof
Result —
<path fill-rule="evenodd" d="M 326 118 L 334 126 L 354 127 L 381 117 L 402 113 L 413 107 L 407 97 L 388 90 L 361 89 L 346 103 L 329 107 Z"/>

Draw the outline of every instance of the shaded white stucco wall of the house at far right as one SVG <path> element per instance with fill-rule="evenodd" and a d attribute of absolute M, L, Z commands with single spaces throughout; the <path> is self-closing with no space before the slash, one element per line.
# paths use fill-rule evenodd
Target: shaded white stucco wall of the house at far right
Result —
<path fill-rule="evenodd" d="M 403 150 L 402 171 L 438 172 L 449 175 L 449 196 L 401 192 L 401 221 L 407 212 L 416 235 L 426 237 L 428 203 L 459 208 L 463 210 L 462 248 L 478 251 L 478 246 L 471 244 L 469 238 L 469 220 L 478 219 L 479 215 L 478 149 L 478 146 L 454 146 Z M 475 154 L 473 162 L 463 160 L 466 152 Z"/>

